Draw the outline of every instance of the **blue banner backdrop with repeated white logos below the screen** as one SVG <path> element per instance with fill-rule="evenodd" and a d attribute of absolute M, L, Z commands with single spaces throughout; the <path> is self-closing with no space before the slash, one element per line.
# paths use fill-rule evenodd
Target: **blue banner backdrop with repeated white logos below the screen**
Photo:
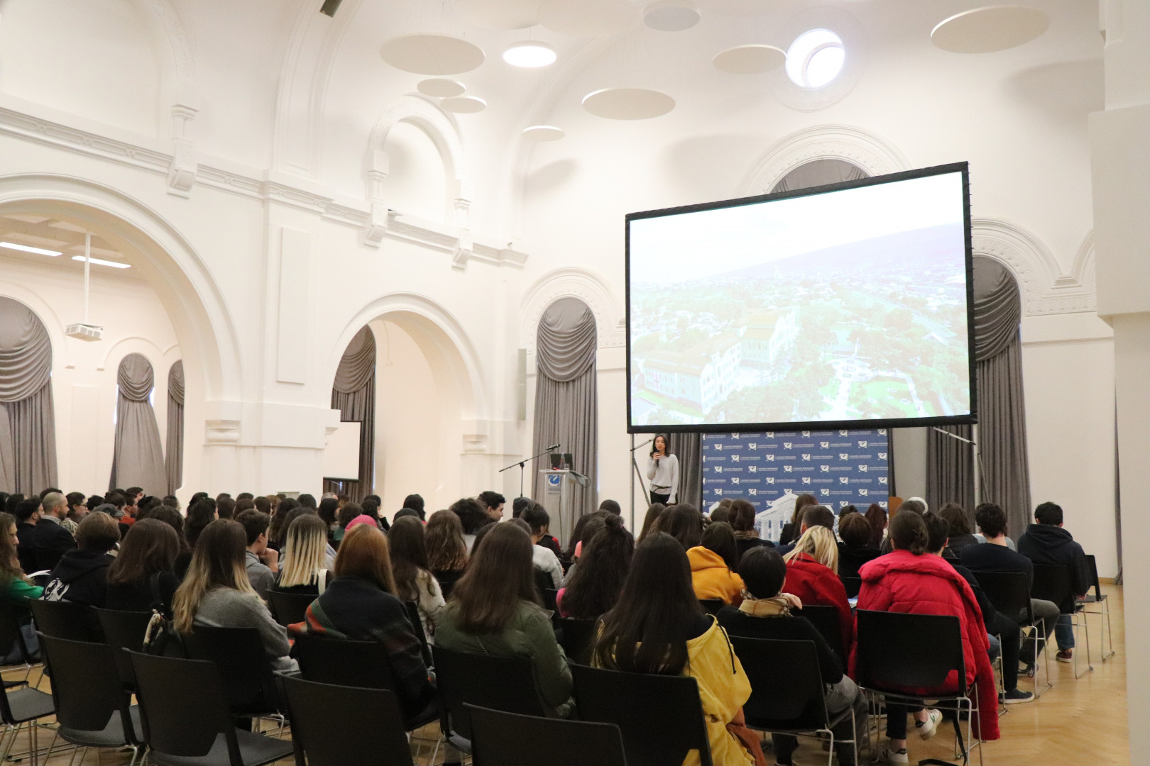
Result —
<path fill-rule="evenodd" d="M 749 501 L 761 536 L 777 541 L 793 506 L 787 495 L 810 493 L 836 513 L 850 504 L 887 508 L 889 443 L 887 428 L 705 433 L 704 510 L 724 497 Z M 780 519 L 767 519 L 772 506 Z"/>

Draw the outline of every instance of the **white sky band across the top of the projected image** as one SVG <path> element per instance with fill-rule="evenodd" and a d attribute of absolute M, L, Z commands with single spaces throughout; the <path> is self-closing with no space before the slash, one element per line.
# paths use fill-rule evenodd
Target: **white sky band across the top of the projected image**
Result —
<path fill-rule="evenodd" d="M 963 223 L 963 175 L 631 222 L 632 283 L 706 279 L 902 231 Z"/>

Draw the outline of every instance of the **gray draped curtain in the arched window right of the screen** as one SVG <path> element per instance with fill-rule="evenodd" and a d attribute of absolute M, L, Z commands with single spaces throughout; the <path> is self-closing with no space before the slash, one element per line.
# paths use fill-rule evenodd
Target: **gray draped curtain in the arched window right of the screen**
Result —
<path fill-rule="evenodd" d="M 1019 325 L 1022 300 L 1013 274 L 994 258 L 974 257 L 974 350 L 979 390 L 979 442 L 982 454 L 982 500 L 1006 512 L 1009 534 L 1022 534 L 1030 519 L 1030 470 L 1026 444 L 1026 402 L 1022 395 L 1022 345 Z M 927 439 L 929 488 L 973 487 L 971 449 L 945 454 L 941 440 Z M 964 434 L 966 435 L 966 434 Z M 973 490 L 972 490 L 973 495 Z M 930 502 L 952 500 L 936 495 Z M 959 502 L 956 500 L 956 502 Z M 971 509 L 971 504 L 964 503 Z"/>

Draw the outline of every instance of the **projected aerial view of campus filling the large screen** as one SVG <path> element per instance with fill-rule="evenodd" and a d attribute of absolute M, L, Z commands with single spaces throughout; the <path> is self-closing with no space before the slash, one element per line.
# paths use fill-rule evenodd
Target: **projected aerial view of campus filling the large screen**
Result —
<path fill-rule="evenodd" d="M 958 173 L 637 218 L 631 424 L 969 413 Z"/>

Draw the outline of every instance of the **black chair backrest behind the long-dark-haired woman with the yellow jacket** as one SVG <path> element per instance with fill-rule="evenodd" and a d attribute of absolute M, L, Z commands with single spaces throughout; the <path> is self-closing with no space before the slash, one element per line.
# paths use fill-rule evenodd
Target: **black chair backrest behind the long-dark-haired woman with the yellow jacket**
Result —
<path fill-rule="evenodd" d="M 580 720 L 618 724 L 631 766 L 681 764 L 691 750 L 712 766 L 699 687 L 689 675 L 645 675 L 572 665 Z"/>

